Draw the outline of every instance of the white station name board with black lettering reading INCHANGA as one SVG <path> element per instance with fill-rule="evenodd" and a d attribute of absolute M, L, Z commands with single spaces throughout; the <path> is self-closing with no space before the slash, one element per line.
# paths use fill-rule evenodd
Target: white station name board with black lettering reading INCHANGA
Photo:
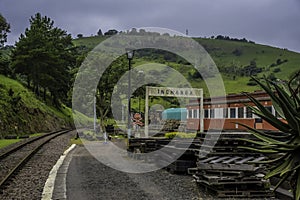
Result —
<path fill-rule="evenodd" d="M 149 96 L 161 97 L 202 97 L 202 89 L 195 88 L 170 88 L 148 87 Z"/>

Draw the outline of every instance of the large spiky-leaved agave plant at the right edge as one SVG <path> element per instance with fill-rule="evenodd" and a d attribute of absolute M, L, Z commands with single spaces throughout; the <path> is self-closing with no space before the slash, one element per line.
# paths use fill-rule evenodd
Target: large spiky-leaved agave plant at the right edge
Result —
<path fill-rule="evenodd" d="M 277 116 L 274 116 L 258 100 L 246 94 L 255 106 L 248 106 L 252 112 L 279 130 L 274 134 L 264 130 L 246 127 L 257 140 L 247 140 L 252 146 L 242 147 L 263 154 L 268 154 L 265 178 L 279 176 L 280 181 L 276 190 L 284 181 L 290 180 L 294 199 L 300 199 L 300 71 L 289 82 L 272 82 L 264 78 L 262 81 L 255 78 L 270 96 Z M 241 124 L 242 125 L 242 124 Z"/>

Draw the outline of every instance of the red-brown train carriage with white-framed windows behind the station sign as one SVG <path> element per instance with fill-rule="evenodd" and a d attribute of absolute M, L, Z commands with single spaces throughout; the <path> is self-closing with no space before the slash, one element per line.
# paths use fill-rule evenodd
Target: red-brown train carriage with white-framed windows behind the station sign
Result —
<path fill-rule="evenodd" d="M 269 111 L 276 115 L 270 97 L 263 91 L 250 93 L 261 102 Z M 224 97 L 203 99 L 203 123 L 204 131 L 208 129 L 223 131 L 244 131 L 245 127 L 237 124 L 245 124 L 252 128 L 276 131 L 272 125 L 252 114 L 246 105 L 254 106 L 245 94 L 229 94 Z M 198 100 L 190 101 L 187 105 L 187 130 L 199 130 L 200 127 L 200 103 Z"/>

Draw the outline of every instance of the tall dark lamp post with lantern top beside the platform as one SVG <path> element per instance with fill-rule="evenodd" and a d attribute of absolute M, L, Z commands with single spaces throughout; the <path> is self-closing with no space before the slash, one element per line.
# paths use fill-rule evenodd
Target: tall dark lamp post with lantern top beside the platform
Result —
<path fill-rule="evenodd" d="M 131 103 L 130 103 L 130 93 L 131 93 L 131 60 L 134 56 L 134 50 L 133 49 L 126 49 L 126 55 L 128 59 L 128 119 L 127 119 L 127 137 L 130 138 L 131 135 Z"/>

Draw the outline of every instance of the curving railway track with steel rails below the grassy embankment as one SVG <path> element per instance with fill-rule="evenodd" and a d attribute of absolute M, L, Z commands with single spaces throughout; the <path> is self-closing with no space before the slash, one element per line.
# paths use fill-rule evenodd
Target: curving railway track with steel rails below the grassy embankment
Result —
<path fill-rule="evenodd" d="M 9 181 L 14 177 L 25 164 L 52 139 L 69 132 L 62 130 L 43 134 L 32 138 L 20 145 L 17 145 L 0 154 L 0 191 L 2 191 Z"/>

